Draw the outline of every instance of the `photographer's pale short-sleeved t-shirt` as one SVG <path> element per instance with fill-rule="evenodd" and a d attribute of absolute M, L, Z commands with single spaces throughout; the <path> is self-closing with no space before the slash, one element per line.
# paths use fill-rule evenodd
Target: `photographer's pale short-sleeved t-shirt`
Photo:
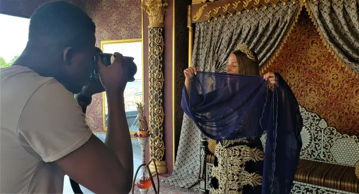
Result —
<path fill-rule="evenodd" d="M 0 193 L 62 193 L 54 162 L 92 135 L 74 95 L 25 66 L 0 69 Z"/>

